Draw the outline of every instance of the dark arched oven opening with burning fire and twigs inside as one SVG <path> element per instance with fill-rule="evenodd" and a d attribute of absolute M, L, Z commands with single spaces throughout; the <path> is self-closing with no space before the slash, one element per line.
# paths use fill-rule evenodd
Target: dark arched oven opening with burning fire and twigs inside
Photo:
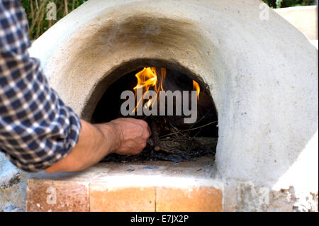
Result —
<path fill-rule="evenodd" d="M 91 123 L 122 117 L 150 125 L 147 146 L 140 154 L 110 154 L 101 162 L 215 159 L 218 114 L 208 86 L 191 73 L 146 66 L 124 74 L 103 93 Z"/>

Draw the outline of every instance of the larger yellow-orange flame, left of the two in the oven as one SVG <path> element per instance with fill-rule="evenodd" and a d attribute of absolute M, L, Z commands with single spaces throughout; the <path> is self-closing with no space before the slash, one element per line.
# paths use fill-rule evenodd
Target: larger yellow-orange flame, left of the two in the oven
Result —
<path fill-rule="evenodd" d="M 164 90 L 163 89 L 163 81 L 166 77 L 166 69 L 161 68 L 160 72 L 161 72 L 161 76 L 160 76 L 159 86 L 157 84 L 158 78 L 157 78 L 157 73 L 156 73 L 155 67 L 144 67 L 144 69 L 142 69 L 142 71 L 135 74 L 135 77 L 138 79 L 138 84 L 133 88 L 135 90 L 135 96 L 137 96 L 137 91 L 140 88 L 142 88 L 143 93 L 145 93 L 146 91 L 149 91 L 149 90 L 153 90 L 156 92 L 155 98 L 153 100 L 152 100 L 152 98 L 150 98 L 147 101 L 145 108 L 149 108 L 150 106 L 152 106 L 153 103 L 157 99 L 159 91 Z M 138 103 L 137 103 L 133 112 L 136 111 L 136 108 L 138 108 L 138 105 L 141 103 L 141 101 L 143 101 L 143 98 L 140 98 L 138 100 Z"/>

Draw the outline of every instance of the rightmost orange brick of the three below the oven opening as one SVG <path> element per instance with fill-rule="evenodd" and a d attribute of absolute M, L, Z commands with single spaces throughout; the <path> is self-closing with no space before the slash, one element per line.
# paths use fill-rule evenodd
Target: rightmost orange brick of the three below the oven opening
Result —
<path fill-rule="evenodd" d="M 197 188 L 156 188 L 156 211 L 219 212 L 223 210 L 223 193 L 213 186 Z"/>

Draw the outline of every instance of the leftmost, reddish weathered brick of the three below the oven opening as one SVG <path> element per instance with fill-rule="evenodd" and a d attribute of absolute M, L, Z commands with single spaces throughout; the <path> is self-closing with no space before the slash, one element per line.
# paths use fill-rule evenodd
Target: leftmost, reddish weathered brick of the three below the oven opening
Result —
<path fill-rule="evenodd" d="M 89 211 L 88 183 L 30 179 L 27 211 Z"/>

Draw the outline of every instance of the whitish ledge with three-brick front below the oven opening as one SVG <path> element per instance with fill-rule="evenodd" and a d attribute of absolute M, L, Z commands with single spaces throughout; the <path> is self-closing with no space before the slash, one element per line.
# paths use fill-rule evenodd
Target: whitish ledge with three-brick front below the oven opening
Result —
<path fill-rule="evenodd" d="M 172 164 L 101 163 L 79 173 L 35 174 L 28 211 L 222 211 L 211 158 Z"/>

